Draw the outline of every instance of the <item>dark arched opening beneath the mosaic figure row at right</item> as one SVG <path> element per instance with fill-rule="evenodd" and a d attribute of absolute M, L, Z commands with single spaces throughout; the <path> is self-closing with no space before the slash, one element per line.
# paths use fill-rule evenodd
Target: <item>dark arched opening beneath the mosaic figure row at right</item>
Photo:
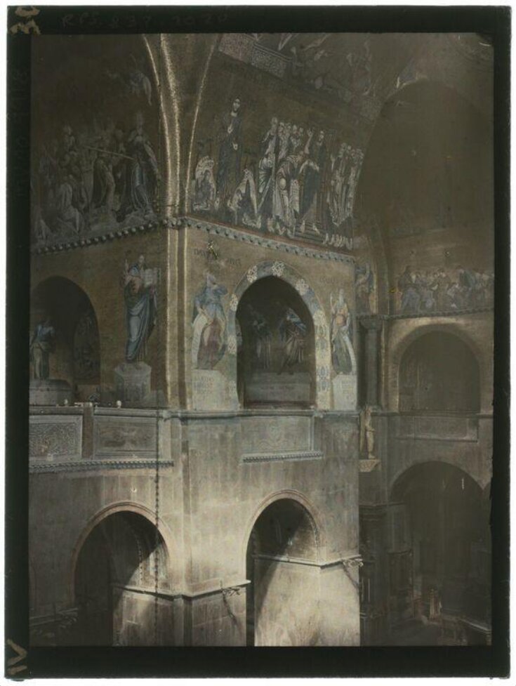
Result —
<path fill-rule="evenodd" d="M 461 338 L 430 331 L 409 345 L 399 364 L 400 412 L 478 412 L 479 365 Z"/>

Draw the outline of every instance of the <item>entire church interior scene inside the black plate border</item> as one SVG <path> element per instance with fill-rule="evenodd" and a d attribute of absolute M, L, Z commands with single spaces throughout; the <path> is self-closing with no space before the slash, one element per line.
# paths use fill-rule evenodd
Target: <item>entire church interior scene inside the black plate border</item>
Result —
<path fill-rule="evenodd" d="M 490 645 L 489 39 L 31 60 L 31 644 Z"/>

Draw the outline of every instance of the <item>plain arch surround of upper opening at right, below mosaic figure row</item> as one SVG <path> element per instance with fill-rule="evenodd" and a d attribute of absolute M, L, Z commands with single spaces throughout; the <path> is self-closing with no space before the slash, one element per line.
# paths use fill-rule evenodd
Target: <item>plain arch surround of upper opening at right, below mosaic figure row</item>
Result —
<path fill-rule="evenodd" d="M 465 343 L 470 352 L 472 352 L 472 355 L 475 357 L 479 368 L 479 399 L 480 407 L 482 407 L 482 391 L 487 378 L 486 362 L 484 359 L 485 351 L 482 351 L 475 340 L 470 336 L 470 334 L 468 334 L 467 331 L 464 331 L 460 324 L 428 322 L 426 324 L 418 324 L 416 328 L 405 334 L 401 340 L 399 340 L 394 347 L 390 349 L 388 364 L 390 369 L 390 404 L 392 408 L 396 411 L 399 411 L 399 369 L 404 353 L 409 349 L 412 343 L 418 340 L 418 338 L 433 332 L 440 332 L 442 334 L 456 336 L 456 338 L 459 338 L 463 343 Z"/>

